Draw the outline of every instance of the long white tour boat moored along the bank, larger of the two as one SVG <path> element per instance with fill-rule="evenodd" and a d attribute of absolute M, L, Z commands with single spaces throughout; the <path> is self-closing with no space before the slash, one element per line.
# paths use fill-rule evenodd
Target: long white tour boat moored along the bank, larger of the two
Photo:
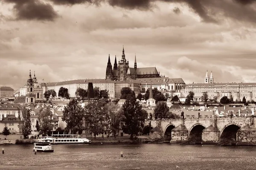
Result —
<path fill-rule="evenodd" d="M 49 142 L 51 144 L 90 144 L 91 141 L 87 138 L 81 138 L 79 135 L 52 135 L 39 137 L 37 142 Z"/>

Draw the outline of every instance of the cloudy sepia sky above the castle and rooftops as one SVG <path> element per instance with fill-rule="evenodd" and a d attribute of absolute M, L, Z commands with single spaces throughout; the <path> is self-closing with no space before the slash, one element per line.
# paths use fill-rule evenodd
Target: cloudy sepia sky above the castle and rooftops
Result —
<path fill-rule="evenodd" d="M 123 45 L 186 84 L 256 82 L 256 0 L 0 0 L 0 86 L 104 79 Z"/>

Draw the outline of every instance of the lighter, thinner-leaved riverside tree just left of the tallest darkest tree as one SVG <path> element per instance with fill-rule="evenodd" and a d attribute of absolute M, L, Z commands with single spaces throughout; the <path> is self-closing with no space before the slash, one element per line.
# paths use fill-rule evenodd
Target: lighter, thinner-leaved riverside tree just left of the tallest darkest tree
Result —
<path fill-rule="evenodd" d="M 104 111 L 106 113 L 108 128 L 112 130 L 114 137 L 116 137 L 116 133 L 119 132 L 122 120 L 124 119 L 124 111 L 112 102 L 105 105 Z"/>

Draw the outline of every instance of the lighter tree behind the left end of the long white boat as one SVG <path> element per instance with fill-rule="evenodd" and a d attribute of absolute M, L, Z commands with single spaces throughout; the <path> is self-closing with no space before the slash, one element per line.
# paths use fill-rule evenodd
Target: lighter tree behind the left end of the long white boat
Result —
<path fill-rule="evenodd" d="M 38 113 L 38 123 L 39 123 L 39 134 L 46 136 L 47 133 L 52 131 L 53 125 L 51 123 L 52 112 L 48 106 L 46 109 L 41 109 Z"/>

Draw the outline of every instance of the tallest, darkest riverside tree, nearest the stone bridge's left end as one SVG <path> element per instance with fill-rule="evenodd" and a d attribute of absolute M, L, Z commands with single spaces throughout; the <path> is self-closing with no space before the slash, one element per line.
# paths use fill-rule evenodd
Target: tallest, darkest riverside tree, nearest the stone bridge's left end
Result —
<path fill-rule="evenodd" d="M 129 94 L 123 105 L 124 109 L 124 125 L 123 131 L 130 135 L 130 138 L 137 138 L 140 129 L 144 126 L 145 119 L 147 119 L 147 113 L 143 112 L 139 102 L 136 101 L 135 96 Z"/>

